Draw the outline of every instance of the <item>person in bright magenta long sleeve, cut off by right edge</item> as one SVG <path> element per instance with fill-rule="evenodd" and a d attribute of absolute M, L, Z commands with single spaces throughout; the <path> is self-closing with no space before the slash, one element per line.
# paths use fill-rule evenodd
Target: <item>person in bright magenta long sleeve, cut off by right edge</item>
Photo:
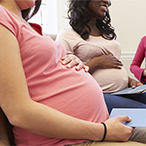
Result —
<path fill-rule="evenodd" d="M 141 82 L 146 83 L 146 67 L 141 68 L 143 60 L 146 58 L 146 36 L 144 36 L 137 48 L 136 54 L 130 66 L 131 72 Z"/>

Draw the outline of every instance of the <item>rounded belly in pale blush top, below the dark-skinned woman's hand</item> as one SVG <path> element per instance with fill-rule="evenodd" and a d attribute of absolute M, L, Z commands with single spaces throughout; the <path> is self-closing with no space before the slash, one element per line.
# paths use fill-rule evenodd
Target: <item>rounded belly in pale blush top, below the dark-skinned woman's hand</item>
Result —
<path fill-rule="evenodd" d="M 128 75 L 125 69 L 98 69 L 93 77 L 105 93 L 122 90 L 128 86 Z"/>

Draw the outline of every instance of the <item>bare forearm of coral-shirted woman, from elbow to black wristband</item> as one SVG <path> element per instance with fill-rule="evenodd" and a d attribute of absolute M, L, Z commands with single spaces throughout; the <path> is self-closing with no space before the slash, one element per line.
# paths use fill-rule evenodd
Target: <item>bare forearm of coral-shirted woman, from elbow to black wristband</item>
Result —
<path fill-rule="evenodd" d="M 40 135 L 97 141 L 102 139 L 104 130 L 101 124 L 73 118 L 33 101 L 24 104 L 20 113 L 19 119 L 12 124 Z"/>

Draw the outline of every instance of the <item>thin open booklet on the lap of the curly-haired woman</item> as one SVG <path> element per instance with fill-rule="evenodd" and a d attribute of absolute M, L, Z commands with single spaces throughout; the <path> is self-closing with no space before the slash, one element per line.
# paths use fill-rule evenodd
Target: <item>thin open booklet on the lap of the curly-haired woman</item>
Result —
<path fill-rule="evenodd" d="M 130 88 L 126 88 L 124 90 L 118 91 L 118 92 L 114 92 L 112 93 L 113 95 L 125 95 L 125 94 L 142 94 L 146 92 L 146 85 L 142 85 L 142 86 L 137 86 L 136 88 L 132 89 Z"/>

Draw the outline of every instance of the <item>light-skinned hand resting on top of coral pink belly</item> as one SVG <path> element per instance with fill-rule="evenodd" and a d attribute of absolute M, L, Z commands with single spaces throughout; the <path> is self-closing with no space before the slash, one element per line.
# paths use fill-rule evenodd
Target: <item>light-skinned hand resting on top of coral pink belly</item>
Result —
<path fill-rule="evenodd" d="M 74 66 L 76 70 L 80 70 L 80 69 L 84 69 L 85 72 L 88 72 L 89 67 L 86 66 L 77 56 L 69 54 L 69 55 L 65 55 L 62 58 L 62 64 L 66 65 L 66 67 L 68 68 L 72 68 Z"/>

